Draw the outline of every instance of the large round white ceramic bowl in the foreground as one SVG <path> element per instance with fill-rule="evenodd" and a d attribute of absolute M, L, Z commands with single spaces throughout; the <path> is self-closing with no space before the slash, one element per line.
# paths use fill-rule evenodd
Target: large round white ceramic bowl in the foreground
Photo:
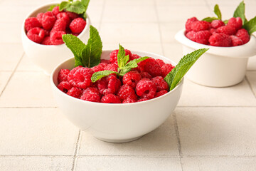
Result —
<path fill-rule="evenodd" d="M 103 51 L 101 58 L 110 59 L 111 51 Z M 169 58 L 154 53 L 132 51 L 139 56 L 161 58 L 172 63 Z M 164 123 L 174 111 L 181 96 L 183 80 L 173 90 L 159 98 L 139 103 L 106 104 L 94 103 L 66 95 L 56 87 L 60 69 L 72 69 L 74 58 L 60 63 L 50 76 L 53 95 L 60 110 L 74 125 L 87 130 L 93 136 L 107 142 L 129 142 L 141 138 Z"/>

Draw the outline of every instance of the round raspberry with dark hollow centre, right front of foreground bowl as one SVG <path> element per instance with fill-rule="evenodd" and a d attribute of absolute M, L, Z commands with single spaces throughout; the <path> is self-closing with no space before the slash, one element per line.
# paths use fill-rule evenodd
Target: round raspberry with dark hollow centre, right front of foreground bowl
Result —
<path fill-rule="evenodd" d="M 154 98 L 154 95 L 156 95 L 156 85 L 153 81 L 143 78 L 139 83 L 137 83 L 136 93 L 141 98 Z"/>

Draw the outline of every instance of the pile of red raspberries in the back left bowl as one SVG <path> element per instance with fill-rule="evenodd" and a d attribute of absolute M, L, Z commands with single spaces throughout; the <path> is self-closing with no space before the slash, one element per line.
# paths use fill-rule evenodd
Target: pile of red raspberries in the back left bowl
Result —
<path fill-rule="evenodd" d="M 39 13 L 36 17 L 29 17 L 25 21 L 28 38 L 43 45 L 63 44 L 63 34 L 71 33 L 78 36 L 85 25 L 86 21 L 78 14 L 60 11 L 59 6 L 55 6 L 53 11 Z"/>

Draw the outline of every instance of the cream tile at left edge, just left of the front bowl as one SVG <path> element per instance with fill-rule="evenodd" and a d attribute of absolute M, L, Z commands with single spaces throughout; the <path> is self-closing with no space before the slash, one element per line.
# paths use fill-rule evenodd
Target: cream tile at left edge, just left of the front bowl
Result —
<path fill-rule="evenodd" d="M 0 107 L 55 106 L 50 78 L 44 73 L 14 73 L 0 98 Z"/>

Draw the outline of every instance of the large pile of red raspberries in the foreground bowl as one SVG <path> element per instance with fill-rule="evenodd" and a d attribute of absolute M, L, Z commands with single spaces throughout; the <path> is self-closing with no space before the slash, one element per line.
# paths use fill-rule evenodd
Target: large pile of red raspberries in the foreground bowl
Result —
<path fill-rule="evenodd" d="M 61 69 L 58 73 L 58 89 L 74 98 L 97 103 L 135 103 L 157 98 L 169 91 L 164 77 L 174 66 L 154 58 L 139 62 L 137 68 L 123 77 L 113 73 L 92 83 L 92 74 L 97 71 L 117 72 L 118 51 L 112 51 L 110 60 L 101 60 L 99 65 L 92 68 L 78 66 L 71 71 Z M 129 61 L 140 58 L 127 49 L 124 51 L 126 56 L 129 55 Z"/>

